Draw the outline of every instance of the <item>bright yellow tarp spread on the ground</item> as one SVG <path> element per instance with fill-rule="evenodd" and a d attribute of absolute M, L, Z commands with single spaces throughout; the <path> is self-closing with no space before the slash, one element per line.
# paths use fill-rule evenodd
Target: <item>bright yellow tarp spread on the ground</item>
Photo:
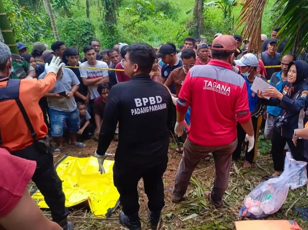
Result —
<path fill-rule="evenodd" d="M 114 161 L 104 161 L 106 173 L 100 174 L 95 157 L 64 156 L 56 167 L 65 193 L 65 206 L 71 207 L 88 201 L 95 217 L 108 217 L 118 205 L 119 193 L 113 185 Z M 42 194 L 32 195 L 40 208 L 48 208 Z"/>

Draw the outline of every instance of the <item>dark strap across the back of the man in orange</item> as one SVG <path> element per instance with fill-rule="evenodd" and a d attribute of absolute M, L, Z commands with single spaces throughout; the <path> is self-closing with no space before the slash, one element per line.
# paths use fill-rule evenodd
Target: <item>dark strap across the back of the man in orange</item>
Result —
<path fill-rule="evenodd" d="M 34 141 L 36 140 L 36 132 L 34 131 L 34 128 L 32 126 L 32 123 L 29 119 L 29 116 L 25 110 L 25 107 L 23 106 L 22 102 L 19 99 L 19 84 L 20 79 L 9 79 L 7 82 L 6 87 L 0 88 L 0 101 L 4 100 L 10 100 L 13 99 L 16 101 L 23 118 L 25 119 L 25 122 L 27 124 L 27 127 L 31 133 L 32 138 Z M 1 90 L 5 91 L 1 92 Z M 0 144 L 2 144 L 2 138 L 1 138 L 1 132 L 0 132 Z"/>

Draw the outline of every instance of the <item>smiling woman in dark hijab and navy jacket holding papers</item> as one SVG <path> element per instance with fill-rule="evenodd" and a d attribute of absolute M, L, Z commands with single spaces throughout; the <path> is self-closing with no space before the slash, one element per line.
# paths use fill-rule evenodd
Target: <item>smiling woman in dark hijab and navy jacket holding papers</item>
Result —
<path fill-rule="evenodd" d="M 297 161 L 306 161 L 304 156 L 304 140 L 299 139 L 295 146 L 292 137 L 294 130 L 304 128 L 305 110 L 308 107 L 308 64 L 305 61 L 298 60 L 290 62 L 288 66 L 288 80 L 283 83 L 282 92 L 275 87 L 259 92 L 259 97 L 271 97 L 268 105 L 282 108 L 280 116 L 274 123 L 274 132 L 281 134 L 280 140 L 288 143 L 292 156 Z M 274 135 L 273 135 L 274 136 Z M 273 138 L 274 142 L 274 138 Z M 274 144 L 273 144 L 274 145 Z M 284 166 L 283 148 L 284 145 L 275 145 L 272 149 L 274 170 L 282 172 Z"/>

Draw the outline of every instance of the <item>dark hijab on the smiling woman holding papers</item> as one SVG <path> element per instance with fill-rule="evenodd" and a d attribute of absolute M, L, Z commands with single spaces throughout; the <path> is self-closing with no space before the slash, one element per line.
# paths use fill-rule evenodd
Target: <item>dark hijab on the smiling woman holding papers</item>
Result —
<path fill-rule="evenodd" d="M 296 67 L 296 80 L 291 84 L 291 89 L 289 91 L 290 97 L 297 93 L 304 84 L 307 84 L 306 79 L 308 78 L 308 63 L 306 61 L 291 61 L 288 65 L 288 71 L 293 64 Z"/>

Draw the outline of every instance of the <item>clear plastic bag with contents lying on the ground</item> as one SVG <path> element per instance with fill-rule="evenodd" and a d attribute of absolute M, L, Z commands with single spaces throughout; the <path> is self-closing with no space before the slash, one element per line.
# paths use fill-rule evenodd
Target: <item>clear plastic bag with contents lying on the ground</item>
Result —
<path fill-rule="evenodd" d="M 277 212 L 286 200 L 290 187 L 297 189 L 306 184 L 306 165 L 306 162 L 294 160 L 287 152 L 283 173 L 255 187 L 244 198 L 244 207 L 238 215 L 260 218 Z"/>

